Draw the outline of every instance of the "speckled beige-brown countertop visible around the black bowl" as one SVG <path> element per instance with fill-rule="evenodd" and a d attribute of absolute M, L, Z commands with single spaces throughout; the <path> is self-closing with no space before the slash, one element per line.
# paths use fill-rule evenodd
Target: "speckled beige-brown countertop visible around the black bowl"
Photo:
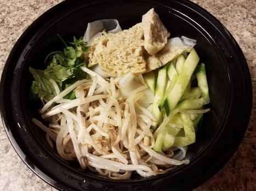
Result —
<path fill-rule="evenodd" d="M 0 75 L 22 32 L 60 0 L 0 0 Z M 229 29 L 240 45 L 253 81 L 253 110 L 242 144 L 218 174 L 195 190 L 256 190 L 256 2 L 255 0 L 193 0 Z M 21 161 L 0 120 L 0 190 L 56 190 Z"/>

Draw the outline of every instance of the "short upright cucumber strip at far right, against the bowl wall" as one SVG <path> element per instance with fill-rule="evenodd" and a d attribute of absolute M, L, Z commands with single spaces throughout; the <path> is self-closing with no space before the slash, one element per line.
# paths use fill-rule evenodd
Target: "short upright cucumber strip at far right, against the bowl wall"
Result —
<path fill-rule="evenodd" d="M 206 77 L 206 65 L 204 63 L 201 63 L 200 65 L 198 65 L 196 70 L 196 77 L 197 77 L 198 87 L 202 92 L 202 98 L 204 98 L 206 102 L 209 103 L 210 102 L 209 88 L 208 88 L 207 77 Z"/>

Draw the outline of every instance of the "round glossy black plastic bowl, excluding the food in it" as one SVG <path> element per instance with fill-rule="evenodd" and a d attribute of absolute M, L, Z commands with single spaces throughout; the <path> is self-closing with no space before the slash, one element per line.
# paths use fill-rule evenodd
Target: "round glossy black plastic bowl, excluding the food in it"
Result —
<path fill-rule="evenodd" d="M 65 40 L 84 34 L 87 23 L 118 19 L 122 28 L 141 21 L 155 8 L 171 37 L 185 35 L 197 40 L 201 62 L 206 63 L 211 111 L 204 115 L 196 143 L 189 147 L 189 165 L 155 177 L 133 175 L 115 181 L 84 172 L 78 164 L 61 159 L 45 141 L 45 134 L 31 122 L 39 103 L 29 100 L 32 76 L 29 66 L 44 67 L 44 58 L 63 48 Z M 22 34 L 5 64 L 0 91 L 5 130 L 22 160 L 44 181 L 66 190 L 186 190 L 212 177 L 229 160 L 246 131 L 252 107 L 251 77 L 235 39 L 211 14 L 196 4 L 181 1 L 65 1 L 40 16 Z"/>

